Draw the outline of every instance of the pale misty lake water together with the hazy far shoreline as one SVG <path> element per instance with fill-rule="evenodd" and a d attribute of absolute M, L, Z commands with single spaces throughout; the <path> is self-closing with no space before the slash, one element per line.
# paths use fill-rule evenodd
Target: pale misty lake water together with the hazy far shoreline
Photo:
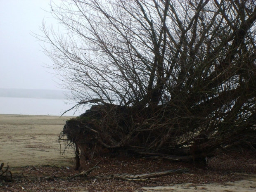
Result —
<path fill-rule="evenodd" d="M 60 90 L 0 89 L 0 114 L 60 116 L 75 105 L 65 94 Z M 64 115 L 78 116 L 84 111 L 81 108 Z"/>

